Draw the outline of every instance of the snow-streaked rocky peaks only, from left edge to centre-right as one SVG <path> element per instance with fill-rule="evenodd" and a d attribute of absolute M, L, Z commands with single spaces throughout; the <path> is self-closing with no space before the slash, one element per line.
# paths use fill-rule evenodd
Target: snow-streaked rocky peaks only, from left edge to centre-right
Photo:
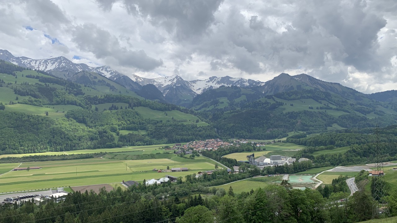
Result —
<path fill-rule="evenodd" d="M 0 50 L 0 60 L 21 67 L 46 71 L 64 79 L 73 78 L 73 75 L 81 71 L 96 72 L 133 91 L 139 91 L 145 85 L 154 85 L 162 92 L 167 102 L 178 105 L 189 104 L 197 94 L 220 86 L 256 87 L 263 84 L 261 81 L 228 76 L 210 77 L 205 80 L 194 81 L 185 81 L 178 75 L 147 79 L 134 74 L 129 76 L 124 75 L 109 66 L 90 67 L 85 63 L 73 63 L 64 56 L 31 59 L 23 56 L 15 57 L 8 50 Z M 161 100 L 162 98 L 157 99 Z"/>

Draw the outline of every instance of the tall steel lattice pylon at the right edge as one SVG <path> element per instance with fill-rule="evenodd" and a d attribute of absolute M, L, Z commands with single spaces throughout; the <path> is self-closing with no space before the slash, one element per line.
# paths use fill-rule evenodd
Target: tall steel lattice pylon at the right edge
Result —
<path fill-rule="evenodd" d="M 384 200 L 384 197 L 387 195 L 385 191 L 386 183 L 385 183 L 385 175 L 384 168 L 382 162 L 382 155 L 380 149 L 380 128 L 376 125 L 373 130 L 375 133 L 375 167 L 372 171 L 372 198 L 374 200 L 374 205 L 372 206 L 372 219 L 379 217 L 388 217 L 389 210 L 387 208 L 387 201 Z"/>

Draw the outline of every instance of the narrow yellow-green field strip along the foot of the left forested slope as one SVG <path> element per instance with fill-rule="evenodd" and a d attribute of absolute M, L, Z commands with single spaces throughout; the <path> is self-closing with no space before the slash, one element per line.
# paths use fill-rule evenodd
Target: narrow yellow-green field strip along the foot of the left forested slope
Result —
<path fill-rule="evenodd" d="M 184 143 L 182 143 L 184 144 Z M 95 150 L 73 150 L 65 152 L 41 152 L 41 153 L 27 153 L 27 154 L 2 154 L 0 158 L 3 157 L 22 157 L 22 156 L 34 156 L 34 155 L 62 155 L 62 154 L 84 154 L 84 153 L 96 153 L 96 152 L 141 152 L 141 154 L 155 154 L 162 153 L 164 150 L 159 149 L 163 146 L 173 146 L 174 144 L 158 144 L 150 146 L 124 146 L 122 148 L 104 148 Z M 167 150 L 167 152 L 173 152 L 173 150 Z M 138 153 L 139 154 L 139 153 Z"/>

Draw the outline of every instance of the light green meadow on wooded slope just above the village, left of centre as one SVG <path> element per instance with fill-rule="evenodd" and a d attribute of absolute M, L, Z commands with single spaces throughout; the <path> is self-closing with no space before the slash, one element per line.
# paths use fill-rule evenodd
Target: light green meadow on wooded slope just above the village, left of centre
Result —
<path fill-rule="evenodd" d="M 197 124 L 197 126 L 205 126 L 208 125 L 208 123 L 201 121 L 197 116 L 179 112 L 177 110 L 172 110 L 172 111 L 158 111 L 158 110 L 152 110 L 150 108 L 146 107 L 135 107 L 135 111 L 137 111 L 139 114 L 142 115 L 142 117 L 147 118 L 147 119 L 155 119 L 155 120 L 162 120 L 162 121 L 173 121 L 174 120 L 186 120 L 186 121 L 181 121 L 179 123 L 183 124 Z M 196 123 L 196 120 L 199 120 L 198 123 Z M 190 120 L 190 121 L 189 121 Z"/>

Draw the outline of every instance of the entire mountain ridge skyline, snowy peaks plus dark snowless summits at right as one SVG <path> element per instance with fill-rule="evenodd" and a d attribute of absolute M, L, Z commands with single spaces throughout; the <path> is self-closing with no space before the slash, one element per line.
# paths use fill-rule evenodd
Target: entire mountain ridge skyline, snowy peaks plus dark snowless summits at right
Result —
<path fill-rule="evenodd" d="M 98 73 L 99 75 L 122 85 L 128 90 L 137 92 L 137 94 L 144 98 L 185 107 L 193 107 L 193 99 L 203 92 L 222 86 L 249 88 L 259 97 L 291 90 L 316 89 L 331 92 L 343 96 L 343 98 L 367 97 L 378 101 L 394 101 L 394 98 L 397 98 L 396 91 L 363 94 L 339 83 L 329 83 L 306 74 L 291 76 L 286 73 L 281 73 L 277 77 L 274 77 L 274 79 L 266 82 L 244 78 L 233 78 L 229 76 L 209 77 L 205 80 L 186 81 L 178 75 L 158 77 L 154 79 L 139 77 L 135 74 L 124 75 L 123 73 L 120 73 L 106 65 L 90 67 L 85 63 L 73 63 L 64 56 L 50 57 L 47 59 L 31 59 L 24 56 L 15 57 L 8 52 L 8 50 L 0 50 L 0 60 L 10 62 L 21 67 L 46 71 L 56 77 L 80 84 L 87 84 L 86 81 L 82 80 L 87 79 L 87 75 L 90 75 L 90 73 Z M 216 94 L 216 91 L 214 94 Z"/>

